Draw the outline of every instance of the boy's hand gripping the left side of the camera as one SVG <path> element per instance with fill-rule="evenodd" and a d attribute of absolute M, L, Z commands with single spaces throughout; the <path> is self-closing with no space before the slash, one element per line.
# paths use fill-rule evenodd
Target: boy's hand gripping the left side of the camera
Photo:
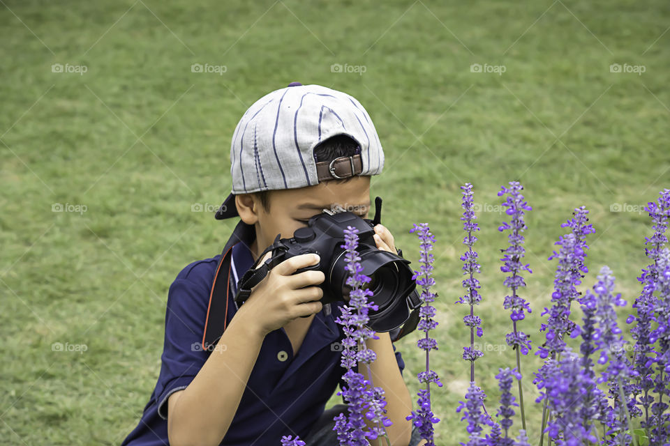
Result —
<path fill-rule="evenodd" d="M 258 266 L 271 254 L 267 252 Z M 323 272 L 309 270 L 293 274 L 299 268 L 315 265 L 318 261 L 316 254 L 301 254 L 279 263 L 251 289 L 251 295 L 238 312 L 246 314 L 247 321 L 256 325 L 264 337 L 295 318 L 320 312 L 323 305 L 319 300 L 323 290 L 315 285 L 325 280 Z"/>

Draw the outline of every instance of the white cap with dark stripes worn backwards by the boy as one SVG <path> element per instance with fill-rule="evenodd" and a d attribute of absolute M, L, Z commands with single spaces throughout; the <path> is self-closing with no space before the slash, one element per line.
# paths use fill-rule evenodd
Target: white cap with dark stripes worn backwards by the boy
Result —
<path fill-rule="evenodd" d="M 337 169 L 333 164 L 318 166 L 314 147 L 337 134 L 358 143 L 357 155 L 338 158 Z M 232 191 L 215 217 L 238 215 L 234 194 L 378 175 L 383 167 L 377 130 L 360 102 L 325 86 L 291 82 L 254 102 L 237 123 L 230 145 Z"/>

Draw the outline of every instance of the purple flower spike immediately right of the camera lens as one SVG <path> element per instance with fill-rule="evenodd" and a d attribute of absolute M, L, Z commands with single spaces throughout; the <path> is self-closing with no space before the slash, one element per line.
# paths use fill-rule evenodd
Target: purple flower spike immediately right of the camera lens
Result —
<path fill-rule="evenodd" d="M 435 417 L 431 410 L 430 385 L 431 383 L 436 383 L 439 387 L 442 387 L 438 374 L 430 369 L 429 356 L 431 350 L 438 350 L 437 341 L 429 337 L 429 330 L 433 330 L 438 326 L 438 322 L 433 319 L 435 316 L 435 307 L 430 305 L 431 302 L 435 301 L 435 297 L 437 297 L 437 293 L 431 292 L 431 286 L 435 284 L 435 279 L 431 277 L 431 272 L 433 271 L 433 254 L 430 254 L 430 252 L 433 250 L 435 238 L 427 223 L 415 224 L 414 227 L 410 229 L 410 232 L 415 231 L 421 241 L 421 268 L 419 268 L 420 272 L 414 272 L 412 278 L 417 279 L 417 285 L 422 288 L 422 291 L 419 294 L 419 300 L 421 300 L 422 303 L 422 307 L 419 309 L 421 321 L 419 321 L 417 327 L 419 330 L 426 333 L 424 338 L 417 341 L 417 346 L 426 351 L 426 370 L 420 371 L 417 377 L 419 378 L 419 383 L 426 383 L 426 388 L 419 390 L 419 410 L 412 410 L 412 414 L 408 415 L 406 420 L 414 420 L 414 425 L 419 428 L 421 438 L 426 440 L 426 445 L 434 446 L 433 424 L 439 422 L 440 419 Z"/>

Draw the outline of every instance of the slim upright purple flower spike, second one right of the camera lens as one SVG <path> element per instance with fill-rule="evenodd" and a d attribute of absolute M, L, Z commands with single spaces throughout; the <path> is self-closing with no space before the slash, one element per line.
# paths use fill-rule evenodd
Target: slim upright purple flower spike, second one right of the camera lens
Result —
<path fill-rule="evenodd" d="M 478 337 L 482 336 L 482 327 L 480 324 L 482 320 L 475 316 L 475 305 L 479 304 L 482 301 L 482 296 L 477 293 L 479 289 L 479 281 L 475 279 L 475 272 L 479 271 L 479 263 L 477 263 L 477 252 L 472 249 L 472 245 L 477 241 L 477 237 L 472 233 L 473 231 L 479 231 L 479 226 L 475 223 L 477 215 L 475 211 L 472 210 L 472 184 L 466 183 L 466 185 L 461 186 L 463 190 L 463 199 L 461 207 L 465 209 L 463 212 L 463 229 L 468 233 L 466 238 L 463 239 L 463 244 L 468 247 L 468 251 L 461 256 L 463 261 L 463 274 L 468 275 L 468 278 L 463 280 L 463 287 L 468 289 L 468 293 L 463 295 L 455 303 L 468 304 L 470 305 L 470 314 L 463 318 L 463 323 L 466 326 L 470 327 L 470 346 L 463 347 L 463 359 L 470 361 L 470 381 L 475 380 L 475 360 L 478 357 L 482 357 L 484 353 L 475 348 L 475 332 Z"/>

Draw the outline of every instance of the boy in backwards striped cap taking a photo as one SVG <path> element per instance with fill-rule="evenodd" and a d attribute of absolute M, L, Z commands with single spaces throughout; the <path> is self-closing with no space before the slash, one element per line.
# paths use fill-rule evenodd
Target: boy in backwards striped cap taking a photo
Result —
<path fill-rule="evenodd" d="M 239 278 L 277 234 L 290 238 L 323 208 L 368 217 L 370 176 L 384 164 L 377 132 L 350 95 L 292 82 L 242 116 L 230 160 L 232 192 L 215 216 L 240 221 L 221 255 L 191 263 L 170 286 L 161 374 L 122 446 L 280 445 L 283 435 L 308 446 L 338 444 L 332 419 L 346 406 L 324 408 L 345 384 L 344 334 L 335 322 L 344 302 L 319 302 L 323 272 L 293 274 L 318 256 L 287 259 L 243 305 L 233 298 Z M 396 252 L 381 224 L 375 243 Z M 389 439 L 417 445 L 418 431 L 405 420 L 412 410 L 405 364 L 392 345 L 399 330 L 377 335 L 367 346 L 377 353 L 371 371 L 385 390 Z M 369 379 L 367 367 L 361 373 Z"/>

